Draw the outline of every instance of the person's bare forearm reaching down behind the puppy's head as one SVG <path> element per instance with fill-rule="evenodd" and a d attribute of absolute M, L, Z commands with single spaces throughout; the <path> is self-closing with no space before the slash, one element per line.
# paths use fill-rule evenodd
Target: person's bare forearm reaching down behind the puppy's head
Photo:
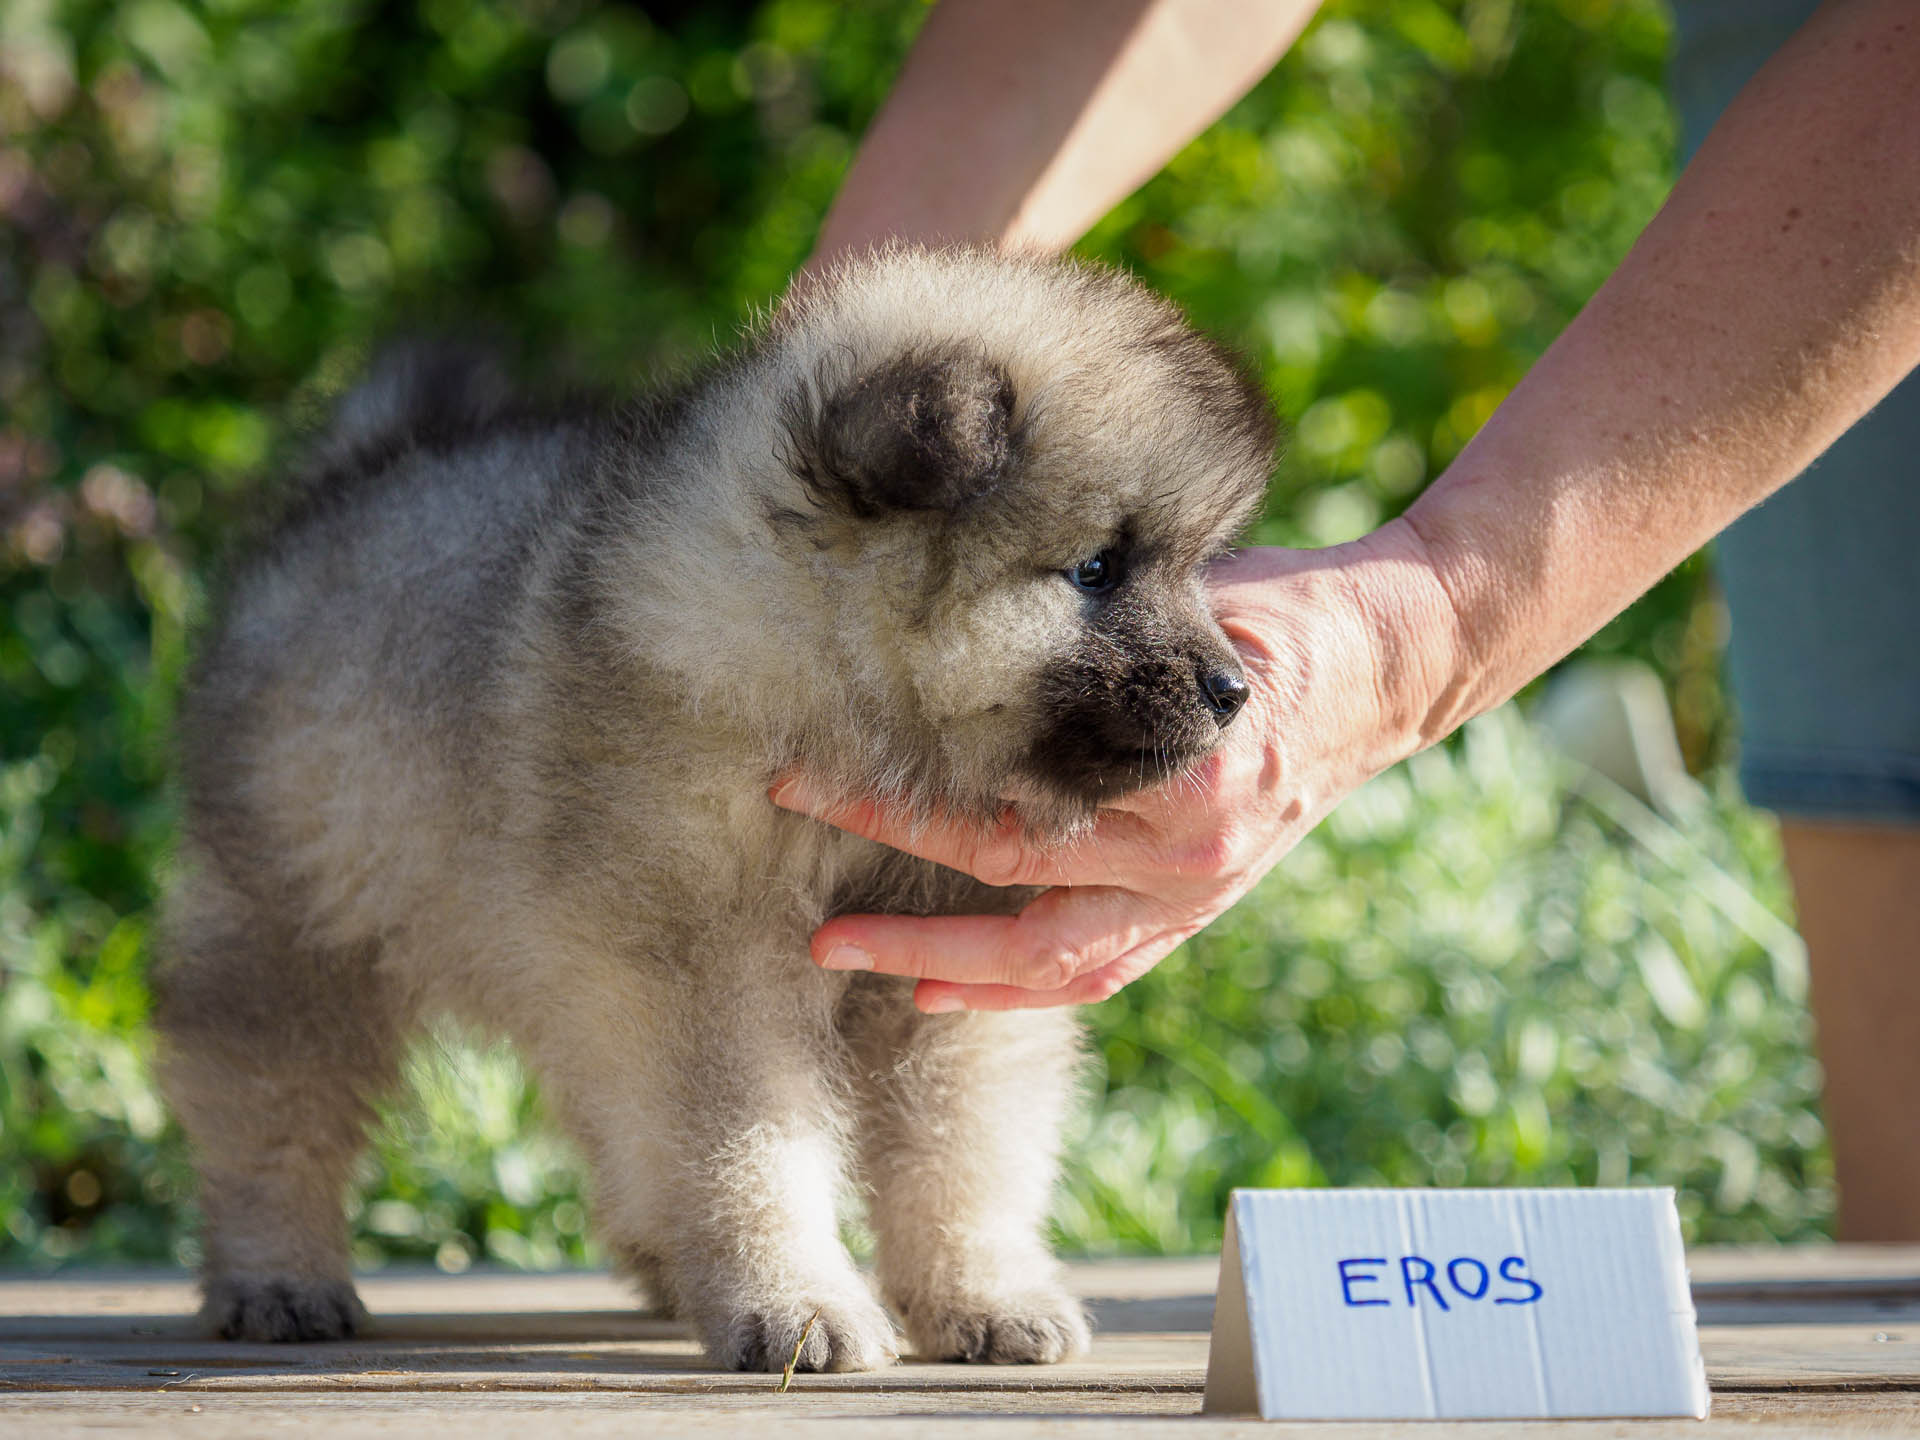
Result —
<path fill-rule="evenodd" d="M 1319 0 L 945 0 L 820 232 L 1064 250 L 1238 100 Z"/>

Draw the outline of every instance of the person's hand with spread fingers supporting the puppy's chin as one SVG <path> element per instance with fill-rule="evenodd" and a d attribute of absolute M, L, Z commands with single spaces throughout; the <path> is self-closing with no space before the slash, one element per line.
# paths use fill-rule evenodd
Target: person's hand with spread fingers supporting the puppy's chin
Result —
<path fill-rule="evenodd" d="M 778 783 L 789 810 L 987 885 L 1046 887 L 1018 916 L 837 916 L 814 931 L 814 962 L 912 975 L 929 1014 L 1104 1000 L 1246 895 L 1348 791 L 1440 737 L 1430 714 L 1455 622 L 1411 526 L 1240 551 L 1210 588 L 1246 666 L 1246 708 L 1208 760 L 1102 808 L 1073 845 L 1037 845 L 1012 816 L 925 824 L 818 804 L 804 776 Z"/>

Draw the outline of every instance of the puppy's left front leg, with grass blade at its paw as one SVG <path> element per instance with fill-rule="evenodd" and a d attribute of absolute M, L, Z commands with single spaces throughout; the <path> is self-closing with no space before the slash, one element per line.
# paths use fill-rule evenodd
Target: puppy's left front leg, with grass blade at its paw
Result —
<path fill-rule="evenodd" d="M 538 1043 L 597 1175 L 609 1248 L 728 1369 L 860 1371 L 895 1357 L 887 1313 L 839 1240 L 845 1062 L 835 981 L 739 950 L 591 996 Z M 804 1332 L 804 1342 L 803 1342 Z"/>

